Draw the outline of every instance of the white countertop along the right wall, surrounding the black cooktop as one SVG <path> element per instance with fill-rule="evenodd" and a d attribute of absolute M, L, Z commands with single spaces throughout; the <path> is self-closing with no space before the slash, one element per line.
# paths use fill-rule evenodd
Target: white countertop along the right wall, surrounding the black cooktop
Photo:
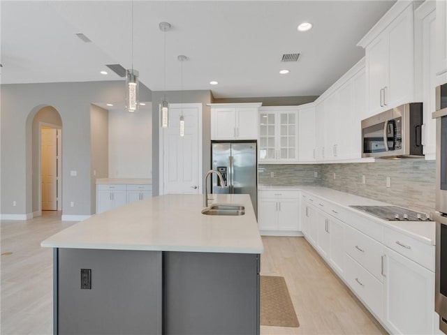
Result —
<path fill-rule="evenodd" d="M 403 234 L 413 237 L 418 241 L 422 241 L 425 244 L 434 246 L 436 243 L 436 223 L 434 223 L 434 221 L 386 221 L 363 211 L 349 207 L 350 205 L 393 206 L 392 204 L 388 204 L 386 202 L 363 198 L 358 195 L 336 191 L 332 188 L 316 186 L 259 186 L 258 189 L 305 191 L 323 200 L 344 207 L 345 209 L 354 211 L 358 215 L 365 216 L 370 220 L 381 223 L 381 225 L 385 227 L 402 232 Z"/>

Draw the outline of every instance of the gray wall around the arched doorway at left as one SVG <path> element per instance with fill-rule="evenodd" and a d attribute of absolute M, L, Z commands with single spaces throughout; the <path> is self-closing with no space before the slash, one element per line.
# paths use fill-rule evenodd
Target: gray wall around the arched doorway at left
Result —
<path fill-rule="evenodd" d="M 32 135 L 34 116 L 50 105 L 62 120 L 62 211 L 91 215 L 90 103 L 124 101 L 124 82 L 3 84 L 1 89 L 1 214 L 32 212 Z M 152 101 L 140 87 L 140 99 Z M 77 177 L 70 171 L 76 170 Z M 13 207 L 13 201 L 17 206 Z M 70 207 L 70 202 L 75 203 Z"/>

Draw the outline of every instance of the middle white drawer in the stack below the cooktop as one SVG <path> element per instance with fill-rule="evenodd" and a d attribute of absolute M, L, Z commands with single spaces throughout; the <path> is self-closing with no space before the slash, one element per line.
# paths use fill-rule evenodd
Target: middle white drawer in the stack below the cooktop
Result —
<path fill-rule="evenodd" d="M 371 272 L 379 281 L 382 281 L 383 245 L 349 226 L 346 226 L 344 234 L 344 250 L 346 253 Z"/>

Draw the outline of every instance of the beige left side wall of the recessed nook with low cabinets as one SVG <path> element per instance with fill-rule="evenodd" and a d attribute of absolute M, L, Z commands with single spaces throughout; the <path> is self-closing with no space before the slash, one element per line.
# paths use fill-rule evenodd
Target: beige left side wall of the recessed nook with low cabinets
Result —
<path fill-rule="evenodd" d="M 96 213 L 96 178 L 106 178 L 109 172 L 109 113 L 96 105 L 90 110 L 91 140 L 91 213 Z"/>

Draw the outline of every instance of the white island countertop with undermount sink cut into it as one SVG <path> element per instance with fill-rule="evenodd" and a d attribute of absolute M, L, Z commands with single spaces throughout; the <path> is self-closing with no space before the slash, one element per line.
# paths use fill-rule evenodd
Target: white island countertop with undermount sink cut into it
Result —
<path fill-rule="evenodd" d="M 96 214 L 41 243 L 49 248 L 263 253 L 249 195 L 214 194 L 242 204 L 242 216 L 201 213 L 203 195 L 162 195 Z"/>

